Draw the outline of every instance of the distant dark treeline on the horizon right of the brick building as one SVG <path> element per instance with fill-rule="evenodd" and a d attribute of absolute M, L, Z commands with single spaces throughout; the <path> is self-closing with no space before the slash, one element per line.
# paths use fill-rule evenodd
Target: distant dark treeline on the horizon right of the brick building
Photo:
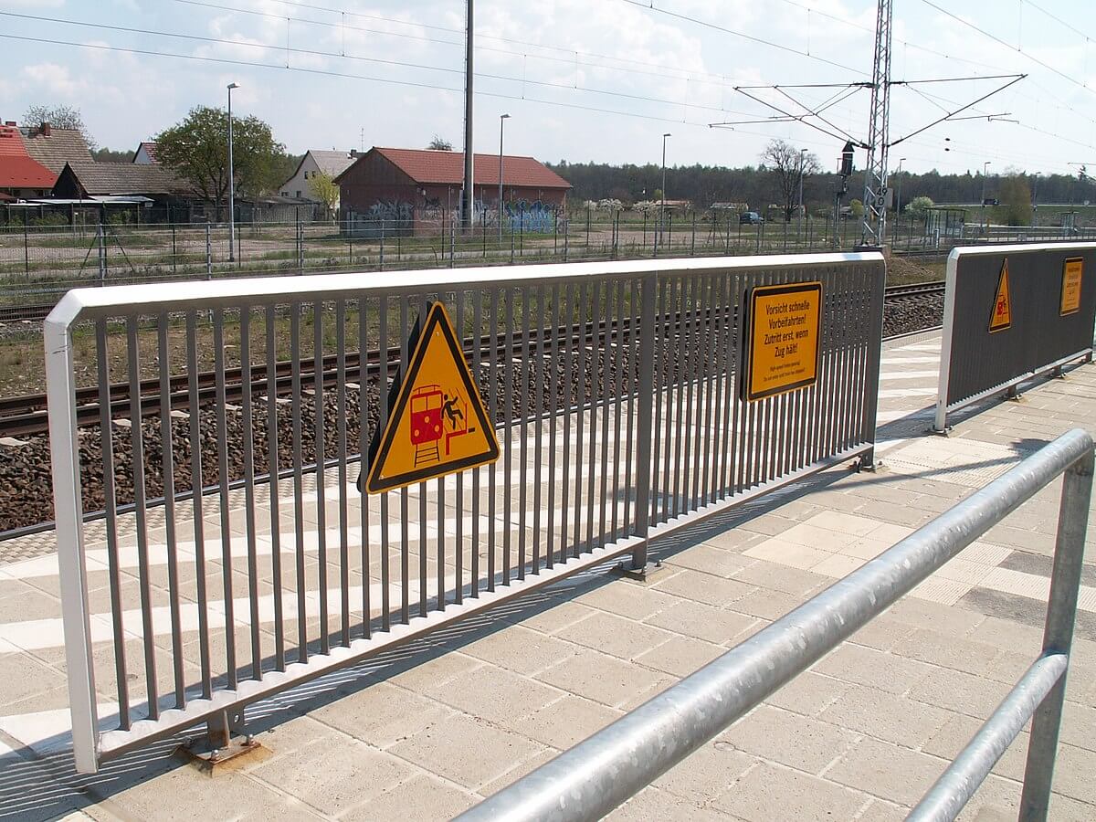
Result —
<path fill-rule="evenodd" d="M 548 163 L 556 173 L 574 186 L 570 202 L 578 205 L 586 199 L 619 199 L 626 205 L 643 199 L 654 199 L 662 187 L 662 167 L 608 165 L 605 163 Z M 1094 169 L 1096 171 L 1096 169 Z M 1020 174 L 1039 203 L 1084 203 L 1096 201 L 1096 183 L 1092 178 L 1054 174 L 1050 176 Z M 997 186 L 1005 175 L 989 174 L 985 196 L 996 196 Z M 811 212 L 833 207 L 834 192 L 841 178 L 836 174 L 808 174 L 803 178 L 803 202 Z M 982 199 L 981 173 L 891 174 L 890 186 L 901 184 L 902 203 L 914 197 L 927 196 L 934 203 L 978 203 Z M 864 195 L 863 172 L 848 180 L 845 204 Z M 678 165 L 666 169 L 666 198 L 687 199 L 699 208 L 712 203 L 749 203 L 753 209 L 779 203 L 777 173 L 763 168 L 729 169 L 720 165 Z"/>

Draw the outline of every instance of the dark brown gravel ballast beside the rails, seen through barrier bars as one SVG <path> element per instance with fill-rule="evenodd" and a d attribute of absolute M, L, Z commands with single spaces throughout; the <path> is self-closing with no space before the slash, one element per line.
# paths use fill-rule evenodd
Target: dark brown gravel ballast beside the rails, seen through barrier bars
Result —
<path fill-rule="evenodd" d="M 883 334 L 890 336 L 894 334 L 916 331 L 940 323 L 943 312 L 943 297 L 929 297 L 921 299 L 904 300 L 895 304 L 888 304 L 883 318 Z M 621 384 L 625 390 L 628 386 L 628 347 L 621 350 L 621 363 L 624 373 Z M 616 356 L 616 349 L 610 349 L 610 358 Z M 534 362 L 537 359 L 534 357 Z M 596 362 L 592 362 L 596 359 Z M 602 353 L 597 352 L 586 355 L 586 366 L 584 372 L 585 391 L 584 398 L 591 397 L 594 383 L 597 391 L 602 390 Z M 717 367 L 720 365 L 716 364 Z M 520 364 L 505 359 L 496 363 L 494 380 L 494 408 L 496 409 L 496 420 L 520 419 L 532 411 L 536 403 L 536 391 L 538 386 L 546 386 L 545 373 L 555 367 L 557 370 L 556 384 L 558 386 L 555 407 L 563 403 L 572 404 L 579 400 L 578 383 L 572 376 L 571 385 L 566 385 L 566 363 L 562 356 L 556 356 L 539 361 L 534 368 L 523 369 Z M 675 370 L 676 370 L 675 366 Z M 507 413 L 507 397 L 505 391 L 506 369 L 510 370 L 512 379 L 512 402 Z M 480 392 L 488 399 L 491 396 L 489 374 L 491 368 L 481 366 L 478 380 Z M 610 390 L 615 390 L 616 372 L 615 363 L 609 367 Z M 578 375 L 578 355 L 572 356 L 571 374 Z M 673 376 L 671 376 L 673 379 Z M 551 408 L 550 389 L 541 389 L 545 393 L 544 407 Z M 377 424 L 378 392 L 376 377 L 370 378 L 365 384 L 365 391 L 368 398 L 366 407 L 368 409 L 368 431 L 366 438 L 372 438 Z M 346 438 L 347 452 L 356 454 L 358 448 L 358 434 L 361 426 L 361 391 L 347 389 L 345 396 L 346 404 Z M 305 393 L 301 397 L 302 419 L 301 419 L 301 455 L 302 463 L 313 463 L 316 458 L 316 435 L 315 435 L 315 395 Z M 324 411 L 324 455 L 328 458 L 339 456 L 338 443 L 338 420 L 339 406 L 335 392 L 328 391 L 323 402 Z M 239 411 L 229 410 L 226 414 L 226 430 L 228 452 L 227 460 L 230 479 L 238 479 L 242 476 L 244 437 L 243 437 L 243 414 Z M 190 418 L 172 419 L 172 460 L 174 465 L 175 491 L 186 491 L 191 488 L 192 466 L 191 466 L 191 436 Z M 252 420 L 253 455 L 256 473 L 264 473 L 269 466 L 269 442 L 267 442 L 267 414 L 266 399 L 264 396 L 255 396 L 254 411 Z M 132 430 L 124 426 L 115 426 L 112 435 L 112 447 L 114 450 L 116 488 L 115 496 L 119 505 L 133 501 L 133 439 Z M 141 425 L 141 438 L 144 442 L 146 460 L 146 498 L 155 499 L 163 494 L 163 464 L 164 455 L 160 438 L 159 418 L 147 419 Z M 277 443 L 278 443 L 278 465 L 281 468 L 292 468 L 294 465 L 293 448 L 293 419 L 289 403 L 279 402 L 277 404 Z M 201 413 L 201 452 L 202 452 L 202 481 L 206 486 L 214 486 L 219 480 L 218 473 L 218 449 L 217 449 L 217 415 L 213 406 L 206 406 Z M 19 447 L 3 447 L 0 449 L 0 530 L 36 525 L 42 522 L 53 520 L 53 491 L 49 473 L 49 441 L 46 434 L 35 435 L 26 438 L 26 444 Z M 83 480 L 83 507 L 84 511 L 102 511 L 104 507 L 104 489 L 102 480 L 102 437 L 98 426 L 90 426 L 80 430 L 80 465 Z M 356 476 L 356 469 L 352 471 Z"/>

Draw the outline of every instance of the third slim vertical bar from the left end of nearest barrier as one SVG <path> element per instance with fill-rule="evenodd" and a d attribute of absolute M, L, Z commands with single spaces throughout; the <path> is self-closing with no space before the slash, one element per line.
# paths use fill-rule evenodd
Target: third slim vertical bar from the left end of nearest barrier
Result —
<path fill-rule="evenodd" d="M 171 614 L 171 659 L 175 675 L 175 707 L 185 708 L 186 678 L 183 671 L 179 541 L 175 533 L 175 459 L 174 436 L 171 430 L 171 362 L 168 353 L 168 322 L 165 312 L 156 318 L 157 366 L 160 372 L 160 453 L 163 471 L 163 525 L 168 540 L 168 608 Z"/>

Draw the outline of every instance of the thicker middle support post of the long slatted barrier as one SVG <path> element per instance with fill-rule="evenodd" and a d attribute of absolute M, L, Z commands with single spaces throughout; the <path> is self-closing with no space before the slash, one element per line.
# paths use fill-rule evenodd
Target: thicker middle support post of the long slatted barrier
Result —
<path fill-rule="evenodd" d="M 647 568 L 647 535 L 651 517 L 651 439 L 654 415 L 654 328 L 658 311 L 658 274 L 651 272 L 643 277 L 639 301 L 639 408 L 636 414 L 636 536 L 640 538 L 631 551 L 631 572 L 644 573 Z"/>

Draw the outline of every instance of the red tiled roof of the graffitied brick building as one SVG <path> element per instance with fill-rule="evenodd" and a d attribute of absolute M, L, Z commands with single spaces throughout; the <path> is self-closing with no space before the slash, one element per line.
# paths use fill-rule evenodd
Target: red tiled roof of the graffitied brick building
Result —
<path fill-rule="evenodd" d="M 463 151 L 433 151 L 411 148 L 374 148 L 416 183 L 460 185 L 465 180 Z M 499 184 L 499 155 L 473 155 L 476 185 Z M 502 176 L 505 185 L 527 189 L 570 189 L 571 184 L 532 157 L 504 156 Z"/>

